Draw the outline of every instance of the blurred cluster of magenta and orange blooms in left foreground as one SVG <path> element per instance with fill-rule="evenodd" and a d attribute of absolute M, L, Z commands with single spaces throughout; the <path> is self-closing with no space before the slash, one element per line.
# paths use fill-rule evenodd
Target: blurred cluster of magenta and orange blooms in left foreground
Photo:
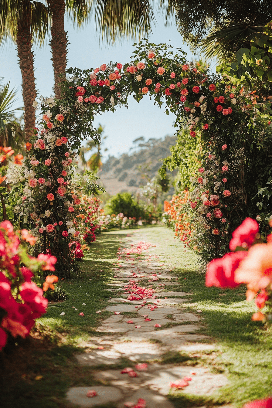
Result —
<path fill-rule="evenodd" d="M 35 237 L 22 231 L 23 241 L 35 243 Z M 13 231 L 9 221 L 0 224 L 0 350 L 7 343 L 7 333 L 14 338 L 25 338 L 35 324 L 35 319 L 46 312 L 47 299 L 43 290 L 31 281 L 40 268 L 43 271 L 55 271 L 57 259 L 40 254 L 29 257 L 26 248 L 20 243 L 19 236 Z M 25 266 L 20 267 L 21 263 Z M 54 282 L 57 277 L 54 277 Z M 53 286 L 53 285 L 51 285 Z"/>

